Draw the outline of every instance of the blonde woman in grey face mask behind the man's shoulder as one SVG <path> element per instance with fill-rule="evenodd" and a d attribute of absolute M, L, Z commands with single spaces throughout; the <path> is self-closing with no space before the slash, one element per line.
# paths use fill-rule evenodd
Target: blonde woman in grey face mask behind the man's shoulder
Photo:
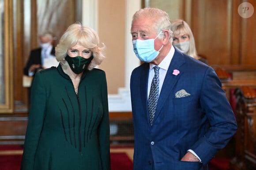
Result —
<path fill-rule="evenodd" d="M 195 39 L 187 22 L 184 22 L 181 19 L 176 19 L 172 22 L 171 30 L 173 31 L 174 47 L 182 53 L 208 64 L 208 61 L 205 58 L 198 56 L 196 52 Z"/>

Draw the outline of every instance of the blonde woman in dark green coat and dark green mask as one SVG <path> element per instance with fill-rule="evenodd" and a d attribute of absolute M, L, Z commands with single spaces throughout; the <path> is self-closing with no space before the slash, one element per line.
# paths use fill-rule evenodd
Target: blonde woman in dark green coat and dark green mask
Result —
<path fill-rule="evenodd" d="M 37 72 L 21 170 L 110 170 L 105 58 L 97 33 L 72 24 L 56 46 L 60 65 Z"/>

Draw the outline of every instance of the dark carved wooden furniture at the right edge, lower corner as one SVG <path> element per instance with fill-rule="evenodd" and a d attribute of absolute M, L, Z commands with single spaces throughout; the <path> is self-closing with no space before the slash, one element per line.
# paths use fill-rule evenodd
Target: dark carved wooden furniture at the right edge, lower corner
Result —
<path fill-rule="evenodd" d="M 237 99 L 235 157 L 230 160 L 232 170 L 256 170 L 256 90 L 240 87 L 234 91 Z"/>

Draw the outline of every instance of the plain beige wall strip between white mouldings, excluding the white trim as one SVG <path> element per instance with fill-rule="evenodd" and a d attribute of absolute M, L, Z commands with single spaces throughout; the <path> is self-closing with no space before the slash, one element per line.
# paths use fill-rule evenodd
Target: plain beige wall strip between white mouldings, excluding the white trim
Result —
<path fill-rule="evenodd" d="M 109 94 L 117 94 L 124 87 L 125 0 L 98 0 L 98 34 L 107 47 L 99 68 L 106 72 Z"/>

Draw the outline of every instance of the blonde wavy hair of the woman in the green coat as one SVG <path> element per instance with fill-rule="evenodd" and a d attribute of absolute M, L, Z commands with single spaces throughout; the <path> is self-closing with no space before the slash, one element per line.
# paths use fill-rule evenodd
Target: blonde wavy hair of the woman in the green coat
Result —
<path fill-rule="evenodd" d="M 56 60 L 60 61 L 60 65 L 64 70 L 69 67 L 68 62 L 65 61 L 68 49 L 74 47 L 77 43 L 81 43 L 81 45 L 89 48 L 93 53 L 94 58 L 88 66 L 89 70 L 92 70 L 94 67 L 102 63 L 105 58 L 105 55 L 103 54 L 105 44 L 102 43 L 102 47 L 99 47 L 98 34 L 90 27 L 76 22 L 68 27 L 55 47 Z"/>

